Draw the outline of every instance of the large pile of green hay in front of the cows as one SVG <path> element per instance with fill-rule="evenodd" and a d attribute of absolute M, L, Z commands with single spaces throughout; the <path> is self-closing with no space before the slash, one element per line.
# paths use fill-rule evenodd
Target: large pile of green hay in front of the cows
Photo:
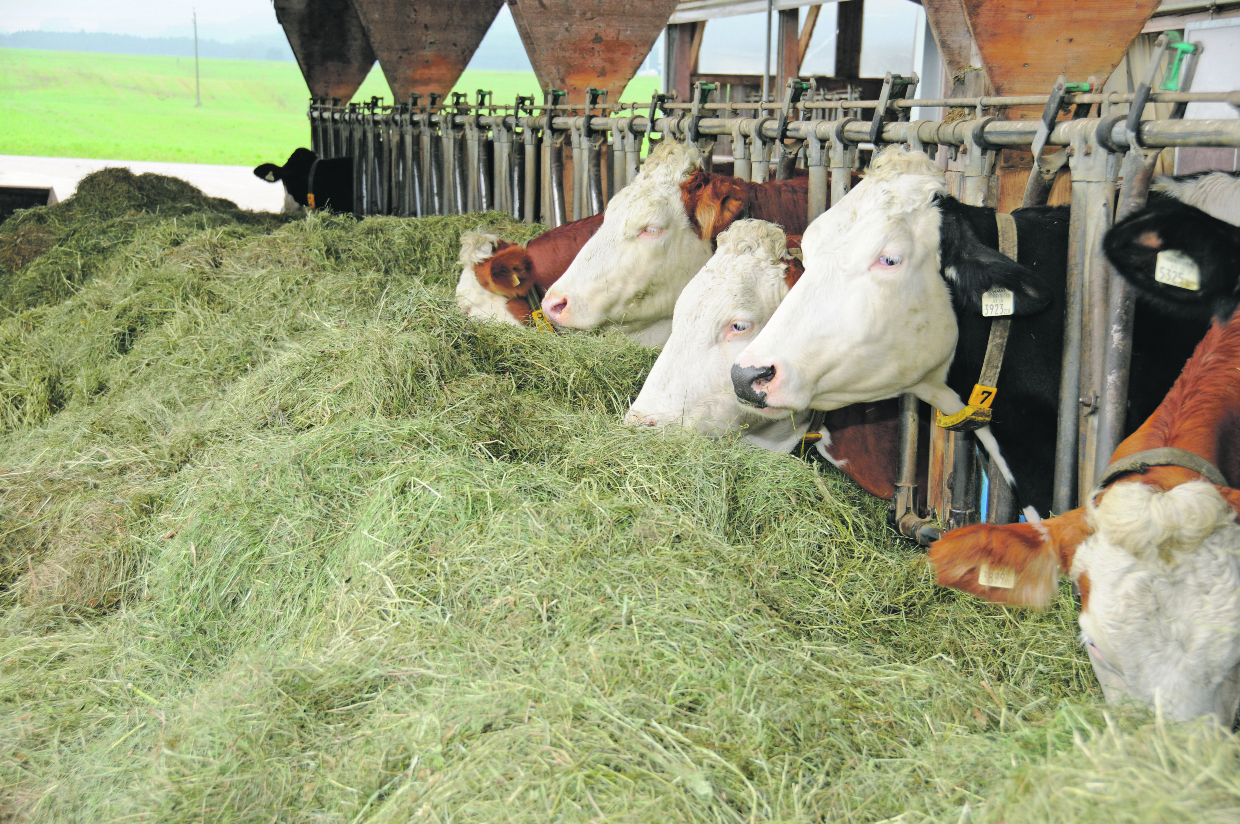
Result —
<path fill-rule="evenodd" d="M 939 589 L 835 469 L 621 427 L 652 350 L 461 316 L 460 232 L 536 228 L 161 185 L 0 226 L 55 232 L 0 271 L 0 820 L 1235 820 L 1066 587 Z"/>

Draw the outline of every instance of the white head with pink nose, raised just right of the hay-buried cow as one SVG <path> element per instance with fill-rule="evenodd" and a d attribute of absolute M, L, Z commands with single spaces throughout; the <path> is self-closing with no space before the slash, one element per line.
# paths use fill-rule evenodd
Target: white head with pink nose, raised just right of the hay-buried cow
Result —
<path fill-rule="evenodd" d="M 598 233 L 547 290 L 547 316 L 560 326 L 615 324 L 641 343 L 666 341 L 677 295 L 712 252 L 712 235 L 698 235 L 681 189 L 699 165 L 692 145 L 668 140 L 655 149 L 641 174 L 608 204 Z"/>

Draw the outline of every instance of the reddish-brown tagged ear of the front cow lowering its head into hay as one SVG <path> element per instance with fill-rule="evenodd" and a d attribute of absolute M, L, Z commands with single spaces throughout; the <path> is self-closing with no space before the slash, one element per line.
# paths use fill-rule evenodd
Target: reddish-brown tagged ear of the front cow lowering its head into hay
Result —
<path fill-rule="evenodd" d="M 1045 607 L 1055 597 L 1059 557 L 1033 524 L 976 524 L 930 546 L 939 584 L 997 603 Z"/>

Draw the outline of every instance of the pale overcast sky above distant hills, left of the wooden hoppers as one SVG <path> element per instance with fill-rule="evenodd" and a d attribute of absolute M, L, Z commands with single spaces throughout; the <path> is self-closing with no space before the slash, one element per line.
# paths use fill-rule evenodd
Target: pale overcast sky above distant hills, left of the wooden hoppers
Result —
<path fill-rule="evenodd" d="M 107 31 L 144 37 L 198 36 L 233 41 L 283 35 L 272 0 L 0 0 L 0 30 Z"/>

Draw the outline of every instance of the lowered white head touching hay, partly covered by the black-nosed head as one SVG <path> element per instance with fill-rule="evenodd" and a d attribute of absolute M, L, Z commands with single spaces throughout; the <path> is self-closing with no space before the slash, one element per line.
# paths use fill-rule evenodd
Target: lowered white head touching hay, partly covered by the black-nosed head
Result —
<path fill-rule="evenodd" d="M 787 294 L 784 232 L 737 221 L 676 300 L 672 334 L 625 423 L 681 423 L 701 434 L 745 429 L 766 449 L 786 452 L 805 434 L 808 413 L 755 410 L 732 391 L 732 364 Z"/>

